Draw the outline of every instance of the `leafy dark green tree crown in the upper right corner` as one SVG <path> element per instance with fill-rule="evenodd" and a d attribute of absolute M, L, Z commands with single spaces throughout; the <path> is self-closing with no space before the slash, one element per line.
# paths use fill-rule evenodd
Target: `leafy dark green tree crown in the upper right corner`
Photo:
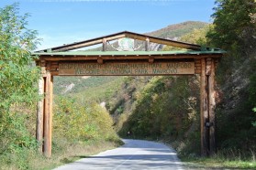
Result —
<path fill-rule="evenodd" d="M 215 27 L 207 37 L 214 46 L 232 51 L 232 56 L 242 54 L 255 43 L 255 1 L 217 0 L 216 4 L 212 15 Z"/>

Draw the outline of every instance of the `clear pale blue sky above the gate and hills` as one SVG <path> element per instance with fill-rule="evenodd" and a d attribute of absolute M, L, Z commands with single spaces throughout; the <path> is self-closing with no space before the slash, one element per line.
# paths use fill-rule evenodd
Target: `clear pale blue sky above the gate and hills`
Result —
<path fill-rule="evenodd" d="M 184 21 L 212 22 L 215 0 L 0 0 L 19 3 L 28 13 L 28 28 L 52 48 L 121 31 L 139 34 Z"/>

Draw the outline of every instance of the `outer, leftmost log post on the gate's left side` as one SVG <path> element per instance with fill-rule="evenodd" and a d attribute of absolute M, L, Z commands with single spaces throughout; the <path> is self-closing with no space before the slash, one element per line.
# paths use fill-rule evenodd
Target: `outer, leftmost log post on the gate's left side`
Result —
<path fill-rule="evenodd" d="M 37 141 L 39 142 L 39 152 L 42 152 L 42 139 L 43 139 L 43 114 L 44 114 L 44 78 L 39 78 L 39 96 L 41 99 L 38 101 L 37 109 Z"/>

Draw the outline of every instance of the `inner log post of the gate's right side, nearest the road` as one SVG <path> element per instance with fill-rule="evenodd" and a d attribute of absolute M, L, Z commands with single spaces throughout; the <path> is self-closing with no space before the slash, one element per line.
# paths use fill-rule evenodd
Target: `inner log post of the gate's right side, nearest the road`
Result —
<path fill-rule="evenodd" d="M 207 77 L 206 77 L 206 58 L 202 58 L 202 71 L 201 71 L 201 104 L 200 104 L 200 117 L 201 117 L 201 154 L 202 156 L 208 155 L 208 137 L 209 132 L 206 127 L 206 123 L 208 123 L 208 95 L 207 95 Z"/>

